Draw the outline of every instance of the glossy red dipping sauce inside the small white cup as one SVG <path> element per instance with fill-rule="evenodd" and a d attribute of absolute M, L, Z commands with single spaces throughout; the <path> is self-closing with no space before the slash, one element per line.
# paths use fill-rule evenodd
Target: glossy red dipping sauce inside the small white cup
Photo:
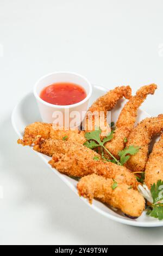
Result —
<path fill-rule="evenodd" d="M 83 87 L 75 83 L 53 83 L 43 88 L 40 93 L 42 100 L 54 105 L 72 105 L 85 99 Z"/>

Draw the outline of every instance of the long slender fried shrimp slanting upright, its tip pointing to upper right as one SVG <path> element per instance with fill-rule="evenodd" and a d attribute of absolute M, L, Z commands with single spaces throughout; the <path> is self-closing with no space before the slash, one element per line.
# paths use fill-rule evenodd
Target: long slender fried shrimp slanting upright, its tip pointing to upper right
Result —
<path fill-rule="evenodd" d="M 118 158 L 118 152 L 123 150 L 126 144 L 126 140 L 134 128 L 135 120 L 137 117 L 137 109 L 140 107 L 143 101 L 145 101 L 148 94 L 154 94 L 156 84 L 149 84 L 149 86 L 141 87 L 136 95 L 124 105 L 120 116 L 116 123 L 116 130 L 114 137 L 110 142 L 105 144 L 105 147 Z"/>

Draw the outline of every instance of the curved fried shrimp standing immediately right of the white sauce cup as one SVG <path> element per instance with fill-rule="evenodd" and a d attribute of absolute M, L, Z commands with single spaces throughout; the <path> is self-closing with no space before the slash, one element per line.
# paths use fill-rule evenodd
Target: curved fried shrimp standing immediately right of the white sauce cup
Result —
<path fill-rule="evenodd" d="M 104 135 L 110 132 L 109 124 L 106 122 L 106 113 L 107 111 L 111 111 L 111 109 L 115 107 L 117 101 L 122 99 L 122 97 L 130 99 L 131 88 L 129 86 L 116 87 L 105 95 L 99 97 L 87 111 L 84 121 L 84 130 L 92 131 L 95 130 L 96 126 L 98 126 L 101 127 Z M 104 114 L 104 116 L 101 118 L 99 124 L 100 114 Z"/>

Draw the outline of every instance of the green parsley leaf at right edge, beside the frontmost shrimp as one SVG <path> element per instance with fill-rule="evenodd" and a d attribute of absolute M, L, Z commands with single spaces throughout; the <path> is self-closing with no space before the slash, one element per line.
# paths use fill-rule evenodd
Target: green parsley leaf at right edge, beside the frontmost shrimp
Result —
<path fill-rule="evenodd" d="M 151 187 L 151 194 L 153 198 L 153 204 L 148 206 L 147 215 L 151 215 L 154 218 L 163 220 L 163 181 L 158 180 L 157 184 L 155 183 Z"/>

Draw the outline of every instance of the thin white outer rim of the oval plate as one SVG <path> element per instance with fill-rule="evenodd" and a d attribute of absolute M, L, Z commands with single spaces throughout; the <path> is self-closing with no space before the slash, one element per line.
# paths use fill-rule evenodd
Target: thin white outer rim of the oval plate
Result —
<path fill-rule="evenodd" d="M 92 84 L 93 88 L 96 88 L 96 89 L 99 89 L 99 90 L 102 90 L 103 92 L 108 92 L 108 88 L 105 88 L 103 86 L 98 86 L 96 84 Z M 17 130 L 17 127 L 16 127 L 16 123 L 15 123 L 15 113 L 16 113 L 16 110 L 17 108 L 20 106 L 21 102 L 24 101 L 26 99 L 26 97 L 28 97 L 29 95 L 32 95 L 33 92 L 30 91 L 29 93 L 27 93 L 26 95 L 24 95 L 20 101 L 18 101 L 18 103 L 16 104 L 16 106 L 14 107 L 14 109 L 12 110 L 12 113 L 11 113 L 11 124 L 12 124 L 12 127 L 14 128 L 15 132 L 17 133 L 18 136 L 22 136 L 20 131 Z M 139 108 L 141 109 L 141 111 L 143 111 L 148 117 L 151 117 L 151 115 L 149 115 L 146 111 L 144 111 L 141 107 Z M 34 150 L 33 150 L 34 151 Z M 38 155 L 39 157 L 41 157 L 41 159 L 43 160 L 43 162 L 45 162 L 47 164 L 47 166 L 49 168 L 51 168 L 51 170 L 62 180 L 65 182 L 65 184 L 71 188 L 71 190 L 78 196 L 78 193 L 76 191 L 76 189 L 74 188 L 74 186 L 72 185 L 72 183 L 70 181 L 68 181 L 64 175 L 61 175 L 58 170 L 56 170 L 55 168 L 52 168 L 46 161 L 45 157 L 43 157 L 43 155 L 41 153 L 38 153 L 36 151 L 34 151 L 34 153 L 36 155 Z M 79 197 L 79 196 L 78 196 Z M 136 221 L 133 221 L 133 220 L 129 220 L 129 219 L 123 219 L 121 217 L 118 217 L 118 216 L 114 216 L 112 214 L 110 214 L 109 212 L 105 212 L 101 209 L 99 209 L 96 205 L 93 205 L 93 204 L 90 204 L 89 202 L 87 202 L 86 198 L 83 198 L 83 197 L 79 197 L 80 199 L 83 200 L 83 202 L 85 202 L 90 208 L 92 208 L 93 210 L 95 210 L 96 212 L 98 212 L 98 214 L 101 214 L 107 218 L 109 218 L 110 220 L 112 221 L 116 221 L 118 223 L 122 223 L 122 224 L 126 224 L 126 225 L 131 225 L 131 226 L 135 226 L 135 227 L 162 227 L 163 226 L 163 221 L 158 221 L 158 220 L 153 220 L 153 221 L 149 221 L 149 222 L 143 222 L 143 221 L 140 221 L 140 222 L 136 222 Z"/>

